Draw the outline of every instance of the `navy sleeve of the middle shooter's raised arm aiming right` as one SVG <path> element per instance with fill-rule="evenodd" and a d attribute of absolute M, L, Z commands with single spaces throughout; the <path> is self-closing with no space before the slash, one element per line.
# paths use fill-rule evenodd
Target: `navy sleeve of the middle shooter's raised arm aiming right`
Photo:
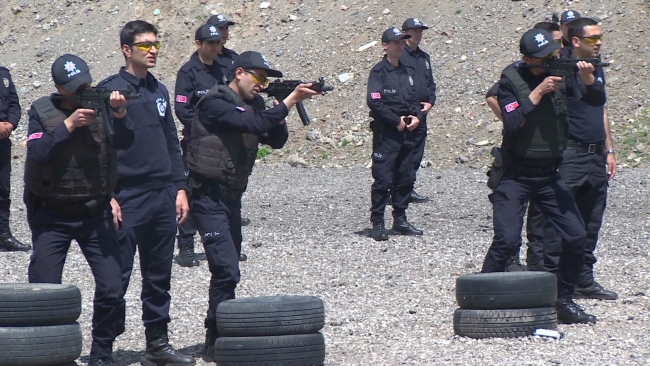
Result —
<path fill-rule="evenodd" d="M 263 135 L 270 132 L 289 114 L 284 103 L 252 114 L 223 98 L 222 95 L 212 95 L 199 104 L 199 121 L 210 133 L 229 128 L 237 132 Z"/>

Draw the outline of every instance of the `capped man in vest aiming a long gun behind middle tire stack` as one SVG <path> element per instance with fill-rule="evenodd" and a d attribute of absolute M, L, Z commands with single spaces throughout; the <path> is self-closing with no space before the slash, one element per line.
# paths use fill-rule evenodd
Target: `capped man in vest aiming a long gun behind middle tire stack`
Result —
<path fill-rule="evenodd" d="M 258 144 L 284 146 L 289 132 L 284 120 L 296 103 L 317 94 L 301 84 L 274 108 L 265 110 L 258 95 L 268 77 L 282 77 L 260 53 L 247 51 L 235 59 L 234 78 L 213 87 L 199 101 L 188 147 L 191 215 L 201 235 L 210 266 L 205 318 L 204 355 L 213 360 L 219 336 L 217 305 L 235 298 L 241 251 L 241 196 L 257 157 Z"/>

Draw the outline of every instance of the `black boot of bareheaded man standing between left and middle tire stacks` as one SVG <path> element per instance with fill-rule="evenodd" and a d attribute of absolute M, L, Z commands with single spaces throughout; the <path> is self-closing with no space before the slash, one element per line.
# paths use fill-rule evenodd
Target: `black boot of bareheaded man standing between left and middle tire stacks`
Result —
<path fill-rule="evenodd" d="M 144 366 L 193 366 L 196 361 L 179 353 L 169 344 L 167 324 L 150 325 L 144 330 L 147 353 L 142 357 Z"/>

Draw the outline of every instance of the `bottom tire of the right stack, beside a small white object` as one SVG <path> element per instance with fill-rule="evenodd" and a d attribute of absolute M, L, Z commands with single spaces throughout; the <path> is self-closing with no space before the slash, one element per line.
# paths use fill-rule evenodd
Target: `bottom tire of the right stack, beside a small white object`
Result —
<path fill-rule="evenodd" d="M 456 309 L 454 333 L 469 338 L 516 338 L 535 329 L 557 329 L 555 308 L 473 310 Z"/>

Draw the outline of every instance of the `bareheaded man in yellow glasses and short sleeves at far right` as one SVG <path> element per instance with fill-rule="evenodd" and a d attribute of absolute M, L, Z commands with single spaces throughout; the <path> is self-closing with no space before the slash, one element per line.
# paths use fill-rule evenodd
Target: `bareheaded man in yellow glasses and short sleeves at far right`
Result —
<path fill-rule="evenodd" d="M 598 57 L 603 34 L 595 20 L 576 19 L 569 23 L 567 34 L 573 43 L 570 57 Z M 594 77 L 596 83 L 605 85 L 602 67 L 596 68 Z M 585 92 L 584 85 L 579 84 L 579 88 Z M 575 96 L 569 96 L 567 103 L 568 139 L 560 164 L 560 176 L 571 191 L 587 230 L 585 263 L 573 297 L 616 300 L 616 292 L 603 288 L 594 280 L 594 250 L 605 212 L 608 181 L 616 175 L 609 119 L 603 106 L 592 106 Z M 545 243 L 544 269 L 555 273 L 562 242 L 544 216 L 539 217 L 535 224 L 541 227 Z"/>

